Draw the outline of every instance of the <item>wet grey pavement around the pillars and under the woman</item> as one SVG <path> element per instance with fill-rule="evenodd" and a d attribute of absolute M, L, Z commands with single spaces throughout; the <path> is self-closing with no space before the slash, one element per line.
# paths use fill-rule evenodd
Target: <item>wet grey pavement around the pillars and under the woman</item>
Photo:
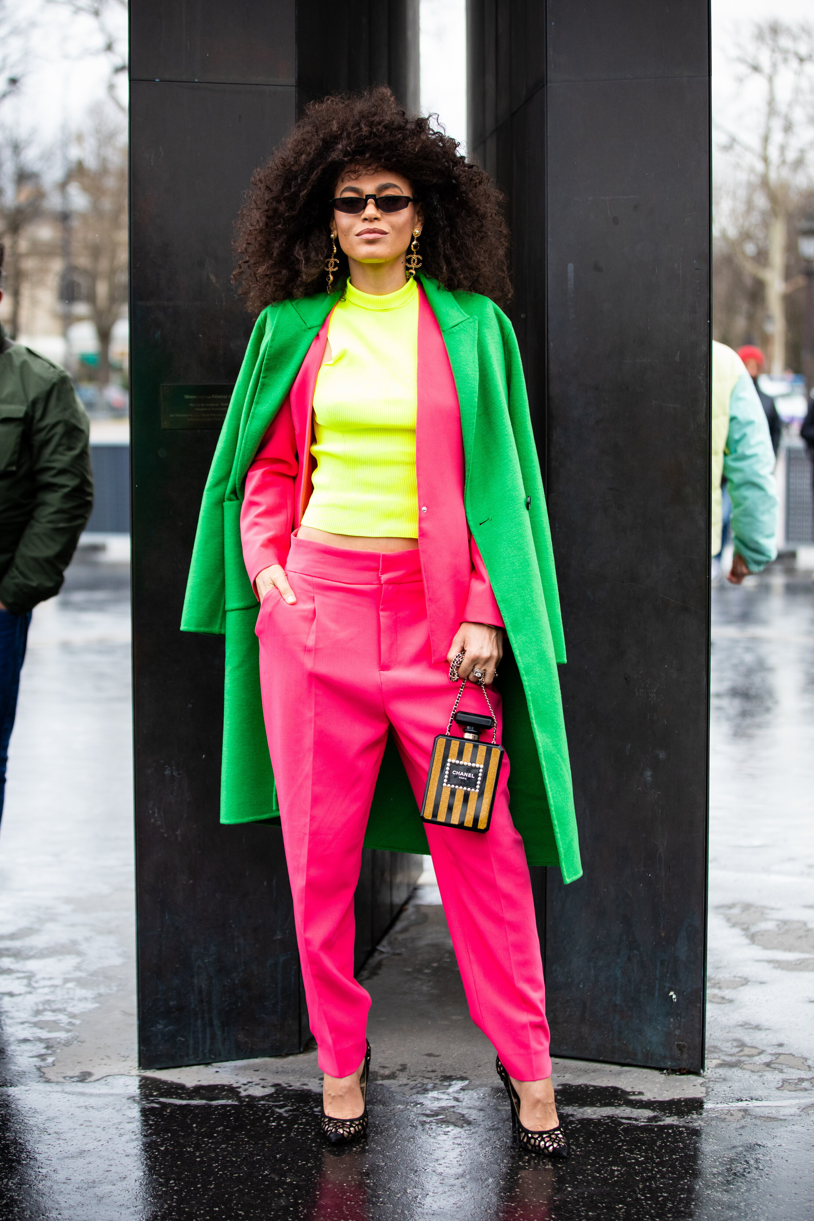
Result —
<path fill-rule="evenodd" d="M 79 556 L 23 672 L 0 834 L 0 1217 L 814 1215 L 810 574 L 714 591 L 707 1073 L 555 1061 L 574 1154 L 552 1165 L 510 1143 L 430 873 L 365 968 L 361 1147 L 322 1147 L 314 1051 L 138 1073 L 123 558 Z"/>

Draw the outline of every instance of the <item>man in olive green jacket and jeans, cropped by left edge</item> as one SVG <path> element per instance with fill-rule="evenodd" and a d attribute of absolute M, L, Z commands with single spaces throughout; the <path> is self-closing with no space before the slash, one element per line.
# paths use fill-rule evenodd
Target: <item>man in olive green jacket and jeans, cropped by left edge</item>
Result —
<path fill-rule="evenodd" d="M 0 325 L 0 814 L 31 612 L 59 592 L 93 508 L 88 433 L 65 370 Z"/>

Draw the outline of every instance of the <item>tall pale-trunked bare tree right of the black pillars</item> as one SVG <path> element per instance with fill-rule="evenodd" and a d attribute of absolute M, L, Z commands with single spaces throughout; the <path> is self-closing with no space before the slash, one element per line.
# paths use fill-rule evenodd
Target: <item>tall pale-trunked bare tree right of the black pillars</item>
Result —
<path fill-rule="evenodd" d="M 760 95 L 754 138 L 726 132 L 722 151 L 737 153 L 746 167 L 718 230 L 741 267 L 763 284 L 764 330 L 771 368 L 786 365 L 786 302 L 803 284 L 790 275 L 788 221 L 796 195 L 810 182 L 814 123 L 814 29 L 780 21 L 757 23 L 735 56 L 740 85 Z M 740 198 L 737 198 L 740 197 Z"/>

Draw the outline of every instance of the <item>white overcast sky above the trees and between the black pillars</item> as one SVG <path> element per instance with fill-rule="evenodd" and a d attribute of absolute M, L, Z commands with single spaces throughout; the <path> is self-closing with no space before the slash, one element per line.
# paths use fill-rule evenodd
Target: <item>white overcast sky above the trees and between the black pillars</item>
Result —
<path fill-rule="evenodd" d="M 447 131 L 459 139 L 466 136 L 466 48 L 465 0 L 421 0 L 421 109 L 438 111 Z M 105 93 L 107 62 L 89 55 L 99 35 L 89 18 L 70 16 L 43 0 L 20 0 L 23 17 L 46 13 L 38 23 L 32 46 L 35 54 L 26 83 L 16 101 L 4 103 L 4 114 L 57 140 L 62 125 L 71 129 L 82 122 L 88 105 Z M 726 122 L 743 121 L 732 70 L 725 51 L 732 33 L 752 21 L 779 17 L 785 21 L 814 20 L 812 0 L 713 0 L 713 105 L 715 116 Z M 124 15 L 118 17 L 123 33 Z M 9 109 L 6 109 L 9 107 Z"/>

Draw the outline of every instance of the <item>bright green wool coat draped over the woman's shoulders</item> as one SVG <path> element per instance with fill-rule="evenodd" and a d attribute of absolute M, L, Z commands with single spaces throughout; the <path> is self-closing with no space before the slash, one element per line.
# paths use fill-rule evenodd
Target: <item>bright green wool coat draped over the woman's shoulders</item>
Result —
<path fill-rule="evenodd" d="M 563 879 L 574 882 L 582 868 L 556 672 L 558 662 L 565 662 L 565 643 L 517 341 L 505 314 L 487 297 L 448 292 L 421 280 L 458 388 L 466 519 L 508 634 L 499 687 L 503 744 L 511 762 L 511 817 L 528 863 L 559 864 Z M 258 600 L 243 563 L 240 505 L 260 441 L 338 297 L 339 292 L 305 297 L 262 311 L 204 491 L 182 630 L 226 635 L 223 823 L 279 817 L 260 701 Z M 450 706 L 453 696 L 450 687 Z M 378 774 L 365 846 L 428 851 L 392 741 Z"/>

